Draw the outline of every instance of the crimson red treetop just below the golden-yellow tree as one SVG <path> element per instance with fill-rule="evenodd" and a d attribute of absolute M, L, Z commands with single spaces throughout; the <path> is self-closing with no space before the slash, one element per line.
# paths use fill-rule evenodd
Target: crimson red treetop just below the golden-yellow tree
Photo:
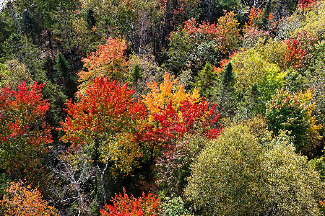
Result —
<path fill-rule="evenodd" d="M 202 100 L 199 103 L 195 98 L 190 98 L 181 102 L 179 113 L 170 103 L 167 108 L 162 108 L 160 113 L 154 114 L 154 120 L 159 126 L 157 128 L 148 126 L 140 135 L 140 139 L 170 143 L 172 140 L 179 140 L 185 134 L 197 133 L 208 138 L 216 138 L 222 129 L 215 127 L 219 118 L 219 114 L 213 117 L 215 107 L 216 104 L 209 109 L 207 101 Z"/>

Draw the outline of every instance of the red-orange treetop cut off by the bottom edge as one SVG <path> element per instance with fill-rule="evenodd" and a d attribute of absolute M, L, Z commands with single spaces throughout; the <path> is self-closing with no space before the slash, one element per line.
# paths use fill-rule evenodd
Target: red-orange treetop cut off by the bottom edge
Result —
<path fill-rule="evenodd" d="M 99 212 L 101 216 L 158 216 L 161 213 L 160 201 L 149 192 L 148 196 L 142 192 L 142 198 L 135 198 L 132 194 L 115 194 L 112 205 L 105 205 Z"/>

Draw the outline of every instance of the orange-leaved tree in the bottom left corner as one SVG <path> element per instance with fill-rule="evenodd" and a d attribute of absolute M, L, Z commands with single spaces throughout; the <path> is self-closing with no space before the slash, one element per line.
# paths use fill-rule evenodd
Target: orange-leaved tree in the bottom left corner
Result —
<path fill-rule="evenodd" d="M 58 216 L 57 210 L 42 199 L 41 193 L 22 180 L 8 183 L 0 205 L 4 216 Z"/>

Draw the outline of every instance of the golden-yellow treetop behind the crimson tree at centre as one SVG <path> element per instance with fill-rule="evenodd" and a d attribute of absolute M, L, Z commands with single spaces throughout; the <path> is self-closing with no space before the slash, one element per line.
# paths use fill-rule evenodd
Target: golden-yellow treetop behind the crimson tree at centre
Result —
<path fill-rule="evenodd" d="M 167 107 L 171 102 L 173 108 L 178 110 L 180 103 L 187 98 L 199 98 L 197 89 L 193 90 L 193 93 L 186 94 L 184 86 L 178 84 L 178 79 L 174 75 L 169 76 L 165 72 L 163 76 L 164 81 L 158 86 L 156 81 L 148 83 L 148 87 L 151 90 L 148 95 L 142 95 L 143 102 L 147 106 L 150 112 L 150 120 L 153 120 L 152 114 L 159 113 L 162 108 Z"/>

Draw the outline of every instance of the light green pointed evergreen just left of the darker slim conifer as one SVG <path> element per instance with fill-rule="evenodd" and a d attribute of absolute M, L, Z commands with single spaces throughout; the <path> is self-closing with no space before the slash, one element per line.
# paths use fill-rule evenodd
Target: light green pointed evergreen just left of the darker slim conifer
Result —
<path fill-rule="evenodd" d="M 209 99 L 213 97 L 216 92 L 214 89 L 215 81 L 217 80 L 217 74 L 210 62 L 206 62 L 202 70 L 198 72 L 198 76 L 194 77 L 194 83 L 190 82 L 192 86 L 199 89 L 199 94 Z"/>

